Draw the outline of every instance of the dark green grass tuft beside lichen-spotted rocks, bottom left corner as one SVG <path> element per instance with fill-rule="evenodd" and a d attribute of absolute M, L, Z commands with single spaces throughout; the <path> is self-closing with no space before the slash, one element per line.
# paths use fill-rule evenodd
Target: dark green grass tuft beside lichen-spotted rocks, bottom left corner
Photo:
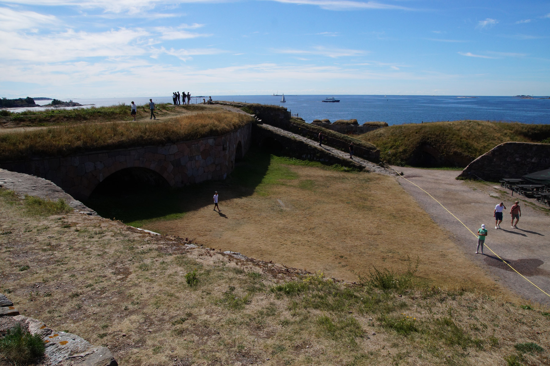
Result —
<path fill-rule="evenodd" d="M 8 329 L 5 337 L 0 339 L 0 352 L 15 365 L 26 365 L 44 356 L 46 347 L 40 335 L 31 335 L 20 325 Z"/>

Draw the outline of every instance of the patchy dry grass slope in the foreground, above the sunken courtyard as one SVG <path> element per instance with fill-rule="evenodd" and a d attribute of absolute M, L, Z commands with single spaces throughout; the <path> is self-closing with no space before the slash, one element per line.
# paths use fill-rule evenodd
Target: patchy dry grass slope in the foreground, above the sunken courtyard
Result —
<path fill-rule="evenodd" d="M 2 292 L 23 314 L 109 347 L 119 364 L 548 364 L 547 310 L 532 304 L 296 276 L 107 219 L 36 219 L 3 199 Z M 195 268 L 191 288 L 184 275 Z M 520 358 L 524 342 L 544 352 Z"/>

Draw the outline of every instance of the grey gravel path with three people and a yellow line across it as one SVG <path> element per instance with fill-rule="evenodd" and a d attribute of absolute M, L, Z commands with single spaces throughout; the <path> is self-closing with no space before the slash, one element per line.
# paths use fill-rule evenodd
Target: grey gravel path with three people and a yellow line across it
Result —
<path fill-rule="evenodd" d="M 550 210 L 525 197 L 511 197 L 510 191 L 484 182 L 456 180 L 458 171 L 416 168 L 395 169 L 404 172 L 406 179 L 422 187 L 447 207 L 456 217 L 476 232 L 485 224 L 488 229 L 487 245 L 501 258 L 530 281 L 550 293 Z M 447 213 L 439 204 L 419 188 L 400 179 L 400 184 L 419 202 L 437 224 L 449 230 L 449 236 L 474 263 L 491 273 L 496 281 L 521 296 L 550 304 L 550 297 L 512 271 L 491 251 L 475 254 L 477 240 L 463 225 Z M 518 229 L 510 228 L 510 207 L 518 199 L 521 219 Z M 494 206 L 504 202 L 503 222 L 500 230 L 494 229 Z"/>

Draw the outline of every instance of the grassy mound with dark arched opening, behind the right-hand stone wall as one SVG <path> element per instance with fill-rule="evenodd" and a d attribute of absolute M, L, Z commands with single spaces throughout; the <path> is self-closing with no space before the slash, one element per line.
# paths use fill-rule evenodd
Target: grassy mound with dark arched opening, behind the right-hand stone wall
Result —
<path fill-rule="evenodd" d="M 451 121 L 394 125 L 359 136 L 380 149 L 381 160 L 394 165 L 466 167 L 507 141 L 545 142 L 550 125 L 489 121 Z"/>

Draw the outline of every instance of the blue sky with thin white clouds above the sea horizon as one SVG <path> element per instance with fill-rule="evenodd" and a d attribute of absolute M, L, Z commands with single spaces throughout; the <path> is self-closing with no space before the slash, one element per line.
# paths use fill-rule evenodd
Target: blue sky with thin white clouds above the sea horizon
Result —
<path fill-rule="evenodd" d="M 0 96 L 549 95 L 550 2 L 0 1 Z"/>

